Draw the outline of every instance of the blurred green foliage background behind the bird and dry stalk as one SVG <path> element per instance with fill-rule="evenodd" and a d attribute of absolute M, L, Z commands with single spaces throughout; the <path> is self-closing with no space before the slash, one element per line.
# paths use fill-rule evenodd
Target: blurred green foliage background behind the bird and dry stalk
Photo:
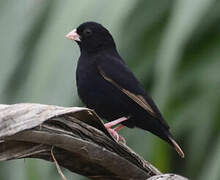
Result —
<path fill-rule="evenodd" d="M 162 172 L 220 179 L 220 1 L 1 0 L 0 103 L 82 106 L 75 87 L 79 49 L 64 36 L 88 20 L 112 32 L 186 158 L 138 129 L 121 131 L 127 144 Z M 0 163 L 0 179 L 60 177 L 53 164 L 25 159 Z"/>

